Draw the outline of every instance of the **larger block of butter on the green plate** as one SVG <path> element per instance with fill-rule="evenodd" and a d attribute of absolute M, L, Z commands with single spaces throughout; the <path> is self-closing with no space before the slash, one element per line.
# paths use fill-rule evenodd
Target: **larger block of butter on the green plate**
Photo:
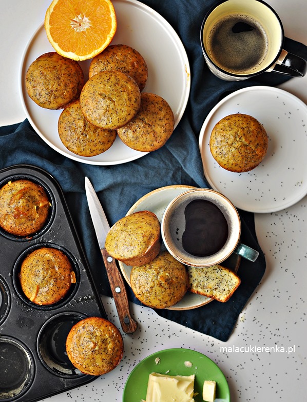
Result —
<path fill-rule="evenodd" d="M 146 402 L 194 402 L 195 375 L 149 374 Z"/>

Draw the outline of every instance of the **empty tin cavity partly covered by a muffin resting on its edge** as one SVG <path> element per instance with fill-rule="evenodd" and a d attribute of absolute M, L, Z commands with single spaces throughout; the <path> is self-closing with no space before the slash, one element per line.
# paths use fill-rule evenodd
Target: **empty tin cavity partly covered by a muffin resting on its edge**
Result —
<path fill-rule="evenodd" d="M 44 366 L 62 377 L 84 375 L 70 362 L 66 353 L 66 337 L 78 321 L 86 318 L 80 313 L 61 313 L 50 318 L 37 338 L 37 351 Z"/>

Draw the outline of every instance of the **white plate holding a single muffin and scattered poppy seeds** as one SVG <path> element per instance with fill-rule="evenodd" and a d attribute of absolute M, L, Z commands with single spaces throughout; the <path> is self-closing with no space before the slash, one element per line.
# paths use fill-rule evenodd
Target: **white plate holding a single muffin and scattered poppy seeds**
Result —
<path fill-rule="evenodd" d="M 210 153 L 209 138 L 215 124 L 233 113 L 255 117 L 269 138 L 266 156 L 250 172 L 228 172 Z M 199 146 L 209 184 L 237 208 L 275 212 L 290 207 L 307 194 L 307 106 L 289 92 L 255 86 L 226 96 L 206 117 Z"/>

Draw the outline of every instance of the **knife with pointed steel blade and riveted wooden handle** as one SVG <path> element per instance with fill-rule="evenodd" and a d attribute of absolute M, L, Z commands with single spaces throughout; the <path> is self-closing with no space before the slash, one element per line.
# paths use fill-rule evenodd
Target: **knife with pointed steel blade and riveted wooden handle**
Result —
<path fill-rule="evenodd" d="M 105 240 L 110 226 L 100 200 L 88 177 L 85 177 L 85 192 L 120 323 L 123 331 L 127 334 L 131 334 L 136 331 L 138 323 L 131 317 L 124 279 L 116 264 L 116 260 L 111 257 L 105 249 Z"/>

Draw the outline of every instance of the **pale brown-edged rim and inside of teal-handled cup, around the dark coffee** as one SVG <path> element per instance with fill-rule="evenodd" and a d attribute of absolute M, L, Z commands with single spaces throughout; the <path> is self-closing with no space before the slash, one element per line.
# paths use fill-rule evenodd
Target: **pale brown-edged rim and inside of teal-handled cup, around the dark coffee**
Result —
<path fill-rule="evenodd" d="M 217 205 L 224 214 L 228 223 L 228 238 L 225 245 L 217 253 L 199 257 L 187 253 L 181 242 L 174 241 L 176 236 L 176 219 L 172 212 L 177 210 L 184 221 L 184 208 L 192 199 L 205 199 Z M 227 259 L 236 249 L 241 235 L 241 220 L 236 207 L 221 193 L 205 188 L 187 190 L 175 197 L 166 207 L 161 221 L 161 236 L 168 252 L 182 264 L 192 267 L 209 267 L 219 264 Z M 179 234 L 180 236 L 180 234 Z"/>

